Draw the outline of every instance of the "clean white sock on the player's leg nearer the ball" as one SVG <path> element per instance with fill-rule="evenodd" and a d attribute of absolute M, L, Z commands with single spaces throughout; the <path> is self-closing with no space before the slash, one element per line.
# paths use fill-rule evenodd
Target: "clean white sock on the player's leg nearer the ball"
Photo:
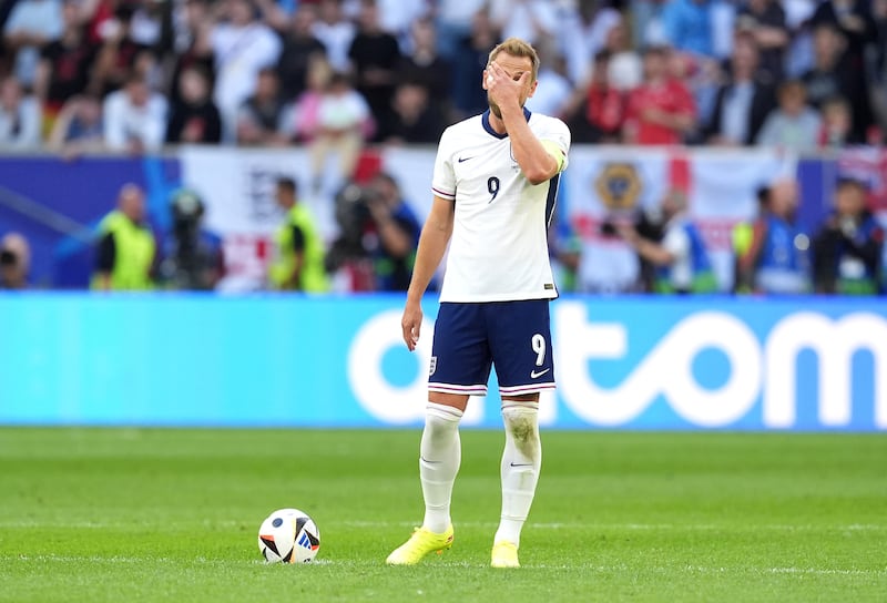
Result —
<path fill-rule="evenodd" d="M 425 430 L 419 447 L 419 479 L 425 498 L 422 527 L 438 534 L 450 525 L 452 483 L 462 459 L 461 418 L 462 411 L 458 408 L 434 402 L 425 407 Z"/>

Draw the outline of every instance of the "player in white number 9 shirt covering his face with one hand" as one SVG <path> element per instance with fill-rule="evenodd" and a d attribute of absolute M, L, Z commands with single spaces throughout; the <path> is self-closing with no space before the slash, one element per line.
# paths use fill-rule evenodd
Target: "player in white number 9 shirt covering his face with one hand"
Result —
<path fill-rule="evenodd" d="M 527 42 L 510 38 L 497 45 L 482 75 L 489 110 L 448 127 L 440 139 L 434 203 L 401 321 L 412 350 L 421 297 L 449 244 L 419 456 L 425 520 L 388 556 L 392 565 L 411 565 L 452 545 L 459 421 L 468 397 L 487 392 L 496 365 L 506 447 L 491 564 L 519 566 L 520 532 L 542 460 L 539 392 L 554 388 L 548 306 L 558 292 L 547 231 L 570 147 L 563 122 L 523 108 L 536 91 L 538 69 L 539 57 Z"/>

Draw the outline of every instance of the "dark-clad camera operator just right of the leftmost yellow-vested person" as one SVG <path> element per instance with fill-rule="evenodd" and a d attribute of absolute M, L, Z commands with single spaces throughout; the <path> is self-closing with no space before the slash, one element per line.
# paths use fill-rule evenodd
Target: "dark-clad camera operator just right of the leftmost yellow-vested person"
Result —
<path fill-rule="evenodd" d="M 212 290 L 225 274 L 222 238 L 203 227 L 203 200 L 183 188 L 172 194 L 172 231 L 164 241 L 160 274 L 172 289 Z"/>

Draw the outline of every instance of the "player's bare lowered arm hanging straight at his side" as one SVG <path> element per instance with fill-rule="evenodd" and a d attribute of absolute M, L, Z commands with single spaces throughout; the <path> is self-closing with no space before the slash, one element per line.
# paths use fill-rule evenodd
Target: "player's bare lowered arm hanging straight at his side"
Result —
<path fill-rule="evenodd" d="M 435 195 L 431 212 L 428 214 L 428 219 L 425 221 L 422 233 L 419 236 L 412 278 L 407 290 L 407 304 L 400 321 L 404 329 L 404 341 L 410 351 L 416 349 L 416 343 L 419 340 L 419 330 L 422 324 L 422 295 L 435 276 L 435 272 L 443 258 L 443 253 L 447 251 L 450 236 L 452 236 L 453 213 L 452 201 Z"/>

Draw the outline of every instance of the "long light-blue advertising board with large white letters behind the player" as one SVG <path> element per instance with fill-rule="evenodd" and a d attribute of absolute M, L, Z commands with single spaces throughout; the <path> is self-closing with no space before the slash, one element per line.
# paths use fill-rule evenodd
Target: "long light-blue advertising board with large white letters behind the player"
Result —
<path fill-rule="evenodd" d="M 418 427 L 401 296 L 0 296 L 0 423 Z M 887 430 L 887 308 L 563 297 L 549 429 Z M 495 386 L 495 377 L 492 379 Z M 499 429 L 498 391 L 468 427 Z"/>

